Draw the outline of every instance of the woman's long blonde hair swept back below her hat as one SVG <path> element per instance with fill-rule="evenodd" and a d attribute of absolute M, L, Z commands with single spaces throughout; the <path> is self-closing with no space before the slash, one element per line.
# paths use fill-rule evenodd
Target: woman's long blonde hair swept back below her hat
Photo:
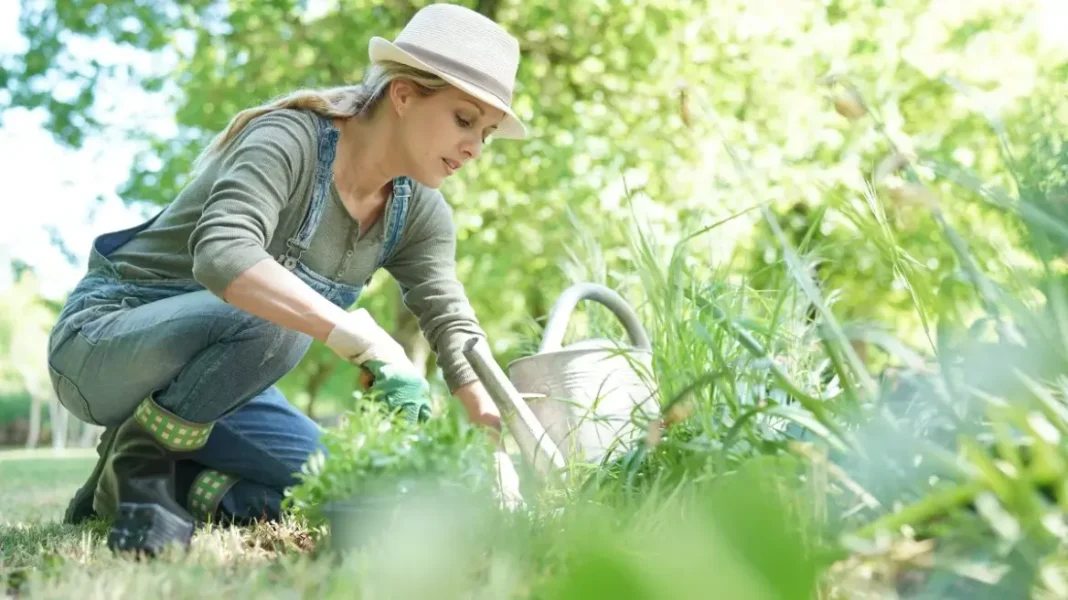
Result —
<path fill-rule="evenodd" d="M 271 111 L 305 109 L 335 119 L 371 115 L 386 97 L 390 83 L 395 79 L 410 81 L 422 96 L 429 96 L 450 85 L 447 81 L 436 75 L 406 64 L 392 61 L 375 63 L 367 69 L 363 81 L 356 85 L 325 90 L 298 90 L 265 105 L 238 112 L 226 125 L 226 128 L 216 136 L 197 158 L 194 170 L 199 170 L 208 158 L 225 148 L 253 119 Z"/>

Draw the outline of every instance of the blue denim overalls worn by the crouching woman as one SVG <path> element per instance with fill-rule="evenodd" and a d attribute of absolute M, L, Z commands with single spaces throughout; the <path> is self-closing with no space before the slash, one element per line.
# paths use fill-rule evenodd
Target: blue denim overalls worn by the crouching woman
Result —
<path fill-rule="evenodd" d="M 329 199 L 339 136 L 331 121 L 320 117 L 312 200 L 277 259 L 348 309 L 363 285 L 330 281 L 301 262 Z M 396 248 L 411 191 L 407 177 L 393 180 L 376 269 Z M 238 483 L 223 498 L 223 510 L 238 518 L 277 518 L 284 489 L 297 483 L 295 473 L 311 453 L 321 449 L 318 425 L 276 385 L 312 338 L 232 306 L 195 281 L 121 279 L 108 255 L 158 217 L 93 241 L 88 273 L 49 337 L 52 384 L 67 410 L 97 425 L 120 425 L 150 394 L 183 419 L 216 422 L 207 443 L 183 455 L 189 460 L 179 461 L 179 477 L 184 470 L 205 468 L 232 475 Z"/>

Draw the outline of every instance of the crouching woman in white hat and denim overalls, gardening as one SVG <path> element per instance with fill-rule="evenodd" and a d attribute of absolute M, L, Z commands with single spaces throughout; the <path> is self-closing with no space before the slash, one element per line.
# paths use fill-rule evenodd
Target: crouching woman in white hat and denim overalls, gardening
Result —
<path fill-rule="evenodd" d="M 400 346 L 365 311 L 346 311 L 378 268 L 399 283 L 471 421 L 500 429 L 462 356 L 484 333 L 436 188 L 489 135 L 524 137 L 509 108 L 518 43 L 478 13 L 433 4 L 370 54 L 360 85 L 237 114 L 170 206 L 94 240 L 49 367 L 63 405 L 107 427 L 65 520 L 114 518 L 113 550 L 188 546 L 207 519 L 279 517 L 320 446 L 274 383 L 312 340 L 370 373 L 407 417 L 428 415 L 426 380 Z M 498 460 L 514 500 L 514 471 Z"/>

